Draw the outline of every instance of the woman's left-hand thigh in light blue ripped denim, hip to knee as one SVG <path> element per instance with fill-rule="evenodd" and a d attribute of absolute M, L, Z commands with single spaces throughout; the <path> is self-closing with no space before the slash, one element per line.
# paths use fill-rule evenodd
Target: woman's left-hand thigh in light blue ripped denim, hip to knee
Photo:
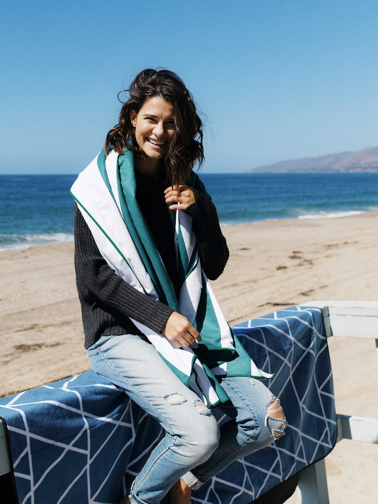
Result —
<path fill-rule="evenodd" d="M 88 349 L 88 358 L 98 374 L 124 390 L 170 434 L 217 428 L 211 411 L 141 337 L 102 336 Z"/>

